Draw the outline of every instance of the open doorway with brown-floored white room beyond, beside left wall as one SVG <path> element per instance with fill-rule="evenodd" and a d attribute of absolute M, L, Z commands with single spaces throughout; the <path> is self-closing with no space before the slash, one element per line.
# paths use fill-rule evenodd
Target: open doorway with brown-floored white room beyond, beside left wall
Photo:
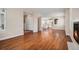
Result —
<path fill-rule="evenodd" d="M 24 15 L 24 34 L 33 32 L 33 19 L 31 15 Z"/>

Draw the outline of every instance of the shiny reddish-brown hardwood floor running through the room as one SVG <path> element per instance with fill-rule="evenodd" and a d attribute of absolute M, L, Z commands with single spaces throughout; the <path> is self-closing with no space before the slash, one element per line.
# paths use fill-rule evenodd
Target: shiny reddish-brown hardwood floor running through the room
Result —
<path fill-rule="evenodd" d="M 25 33 L 12 39 L 0 41 L 1 50 L 67 50 L 63 30 L 48 29 L 38 33 Z"/>

